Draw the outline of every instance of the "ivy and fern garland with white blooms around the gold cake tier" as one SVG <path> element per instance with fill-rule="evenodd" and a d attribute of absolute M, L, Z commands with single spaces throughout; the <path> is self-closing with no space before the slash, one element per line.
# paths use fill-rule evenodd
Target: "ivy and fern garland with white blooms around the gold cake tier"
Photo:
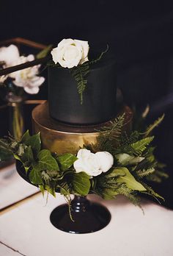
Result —
<path fill-rule="evenodd" d="M 56 196 L 59 191 L 70 205 L 70 194 L 87 196 L 95 193 L 103 199 L 127 196 L 139 205 L 139 194 L 163 199 L 148 182 L 161 182 L 167 177 L 163 164 L 155 158 L 152 130 L 163 120 L 163 115 L 144 131 L 123 129 L 125 114 L 99 130 L 97 143 L 84 145 L 77 154 L 62 155 L 43 149 L 40 133 L 23 135 L 20 141 L 11 136 L 0 140 L 1 155 L 13 155 L 21 161 L 27 177 L 42 191 Z"/>

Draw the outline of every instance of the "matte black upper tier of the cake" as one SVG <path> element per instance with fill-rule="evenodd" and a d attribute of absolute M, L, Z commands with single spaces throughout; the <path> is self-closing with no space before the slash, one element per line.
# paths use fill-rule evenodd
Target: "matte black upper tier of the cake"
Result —
<path fill-rule="evenodd" d="M 68 68 L 48 68 L 48 102 L 52 118 L 67 124 L 100 124 L 116 115 L 116 61 L 103 57 L 89 66 L 83 104 Z"/>

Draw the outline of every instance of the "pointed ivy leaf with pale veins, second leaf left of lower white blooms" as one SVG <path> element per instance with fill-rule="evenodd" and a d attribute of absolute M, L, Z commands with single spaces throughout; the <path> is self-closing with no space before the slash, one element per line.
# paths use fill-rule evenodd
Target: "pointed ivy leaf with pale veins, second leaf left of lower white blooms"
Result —
<path fill-rule="evenodd" d="M 34 164 L 37 171 L 59 171 L 59 166 L 51 152 L 48 149 L 43 149 L 38 154 L 38 162 Z"/>

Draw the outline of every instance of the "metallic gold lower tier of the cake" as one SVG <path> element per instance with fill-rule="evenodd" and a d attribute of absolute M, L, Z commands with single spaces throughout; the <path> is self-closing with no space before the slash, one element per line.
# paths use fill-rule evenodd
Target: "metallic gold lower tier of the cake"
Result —
<path fill-rule="evenodd" d="M 124 130 L 129 131 L 133 118 L 132 110 L 128 106 L 122 106 L 118 115 L 125 113 Z M 32 121 L 34 133 L 40 132 L 42 146 L 57 154 L 70 152 L 76 154 L 79 147 L 85 144 L 96 143 L 98 132 L 101 127 L 108 126 L 110 121 L 88 126 L 71 126 L 62 124 L 50 117 L 48 111 L 48 102 L 40 104 L 32 111 Z"/>

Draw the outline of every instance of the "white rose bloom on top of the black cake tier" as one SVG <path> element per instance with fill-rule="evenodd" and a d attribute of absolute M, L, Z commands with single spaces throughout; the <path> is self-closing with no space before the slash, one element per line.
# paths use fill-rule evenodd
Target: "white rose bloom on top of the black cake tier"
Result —
<path fill-rule="evenodd" d="M 51 51 L 54 63 L 59 63 L 63 68 L 73 68 L 88 60 L 89 44 L 83 40 L 63 39 Z"/>

